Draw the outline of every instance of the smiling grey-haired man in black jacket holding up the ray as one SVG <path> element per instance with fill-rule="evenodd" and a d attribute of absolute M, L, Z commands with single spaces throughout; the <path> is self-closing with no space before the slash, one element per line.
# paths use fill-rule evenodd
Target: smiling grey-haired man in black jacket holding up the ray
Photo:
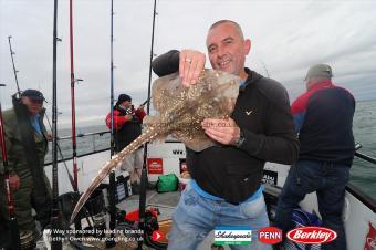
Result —
<path fill-rule="evenodd" d="M 258 241 L 258 230 L 269 226 L 261 186 L 267 160 L 292 164 L 299 143 L 289 96 L 278 82 L 244 67 L 250 51 L 238 23 L 221 20 L 208 31 L 207 49 L 215 70 L 242 79 L 231 118 L 205 119 L 206 134 L 220 143 L 202 152 L 187 148 L 192 177 L 174 213 L 168 249 L 196 249 L 217 226 L 251 227 L 252 243 L 232 249 L 271 249 Z M 154 60 L 154 72 L 178 72 L 182 84 L 195 84 L 206 55 L 199 51 L 169 51 Z M 227 124 L 227 126 L 222 126 Z"/>

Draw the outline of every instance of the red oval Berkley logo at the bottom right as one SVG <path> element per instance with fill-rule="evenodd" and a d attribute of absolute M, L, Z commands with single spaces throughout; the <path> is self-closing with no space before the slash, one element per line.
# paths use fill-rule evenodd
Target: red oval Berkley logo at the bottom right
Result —
<path fill-rule="evenodd" d="M 337 238 L 337 233 L 335 231 L 323 227 L 295 228 L 289 231 L 286 236 L 289 240 L 296 243 L 309 244 L 328 243 Z"/>

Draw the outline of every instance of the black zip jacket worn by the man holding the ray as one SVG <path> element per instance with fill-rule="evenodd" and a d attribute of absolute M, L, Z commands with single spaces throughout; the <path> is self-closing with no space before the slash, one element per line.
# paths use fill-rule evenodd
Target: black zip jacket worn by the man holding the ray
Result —
<path fill-rule="evenodd" d="M 154 60 L 154 72 L 166 75 L 178 71 L 179 52 L 169 51 Z M 292 164 L 299 142 L 290 112 L 289 96 L 278 82 L 246 69 L 248 79 L 240 87 L 231 118 L 246 140 L 234 146 L 213 146 L 202 152 L 187 148 L 191 177 L 207 192 L 238 204 L 260 187 L 265 162 Z"/>

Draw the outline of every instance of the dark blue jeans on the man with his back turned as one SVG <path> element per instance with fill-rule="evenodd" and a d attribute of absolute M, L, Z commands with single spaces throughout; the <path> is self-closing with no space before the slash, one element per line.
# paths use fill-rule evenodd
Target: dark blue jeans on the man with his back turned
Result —
<path fill-rule="evenodd" d="M 285 236 L 294 227 L 291 220 L 292 210 L 297 207 L 306 194 L 316 191 L 323 227 L 337 232 L 337 238 L 331 243 L 322 244 L 322 249 L 346 250 L 342 209 L 348 176 L 348 165 L 299 160 L 296 166 L 291 167 L 279 197 L 275 227 L 281 228 Z M 300 178 L 300 185 L 297 178 Z"/>

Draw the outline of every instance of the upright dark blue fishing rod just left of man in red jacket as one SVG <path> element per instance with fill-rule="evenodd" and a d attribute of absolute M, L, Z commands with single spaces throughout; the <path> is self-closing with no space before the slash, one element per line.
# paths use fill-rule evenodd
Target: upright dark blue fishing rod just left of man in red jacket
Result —
<path fill-rule="evenodd" d="M 109 62 L 109 84 L 111 84 L 111 93 L 109 93 L 109 108 L 111 108 L 111 150 L 109 158 L 114 155 L 114 0 L 111 0 L 111 62 Z M 112 170 L 109 173 L 109 230 L 113 231 L 116 226 L 116 207 L 115 207 L 115 171 Z M 109 239 L 106 240 L 106 247 L 113 248 L 116 242 L 114 240 L 114 233 L 112 232 Z"/>

